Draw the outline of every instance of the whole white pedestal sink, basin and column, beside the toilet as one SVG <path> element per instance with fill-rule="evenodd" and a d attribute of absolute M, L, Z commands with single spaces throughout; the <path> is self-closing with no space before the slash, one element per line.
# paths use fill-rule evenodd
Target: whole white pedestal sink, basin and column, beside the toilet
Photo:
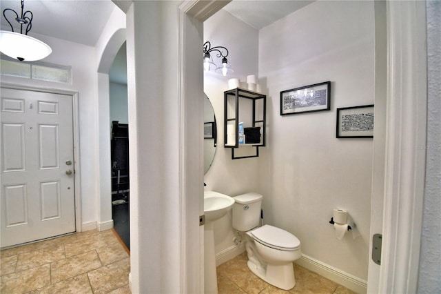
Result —
<path fill-rule="evenodd" d="M 234 199 L 214 191 L 204 191 L 204 292 L 218 293 L 213 222 L 232 209 Z"/>

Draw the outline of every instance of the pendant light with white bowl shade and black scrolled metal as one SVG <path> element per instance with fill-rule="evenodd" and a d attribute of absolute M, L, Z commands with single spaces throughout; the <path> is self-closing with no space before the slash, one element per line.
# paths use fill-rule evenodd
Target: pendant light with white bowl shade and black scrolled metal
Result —
<path fill-rule="evenodd" d="M 33 14 L 30 10 L 23 12 L 25 1 L 21 0 L 21 15 L 10 8 L 3 10 L 3 17 L 8 21 L 11 32 L 0 30 L 0 51 L 19 61 L 35 61 L 43 59 L 50 55 L 52 49 L 42 41 L 28 36 L 28 32 L 32 28 Z M 14 32 L 14 28 L 10 23 L 6 12 L 15 14 L 15 20 L 20 24 L 20 32 Z M 10 13 L 10 15 L 12 14 Z M 12 14 L 12 15 L 13 15 Z M 23 26 L 25 33 L 23 34 Z"/>

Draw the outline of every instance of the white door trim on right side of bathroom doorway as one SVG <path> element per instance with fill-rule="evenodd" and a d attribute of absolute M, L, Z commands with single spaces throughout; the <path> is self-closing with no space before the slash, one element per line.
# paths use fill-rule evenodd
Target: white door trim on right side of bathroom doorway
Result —
<path fill-rule="evenodd" d="M 387 1 L 387 134 L 378 293 L 416 293 L 427 135 L 425 1 Z"/>

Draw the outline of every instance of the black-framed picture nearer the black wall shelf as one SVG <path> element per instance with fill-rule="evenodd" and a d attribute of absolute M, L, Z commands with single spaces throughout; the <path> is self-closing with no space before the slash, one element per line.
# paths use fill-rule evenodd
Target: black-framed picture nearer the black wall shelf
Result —
<path fill-rule="evenodd" d="M 280 92 L 280 115 L 296 115 L 330 109 L 330 81 Z"/>

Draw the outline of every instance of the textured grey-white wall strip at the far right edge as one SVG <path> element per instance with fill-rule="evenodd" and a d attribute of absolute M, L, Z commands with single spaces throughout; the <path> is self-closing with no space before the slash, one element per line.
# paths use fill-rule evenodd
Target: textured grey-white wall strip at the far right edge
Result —
<path fill-rule="evenodd" d="M 428 114 L 426 186 L 418 293 L 441 293 L 441 3 L 427 1 Z"/>

